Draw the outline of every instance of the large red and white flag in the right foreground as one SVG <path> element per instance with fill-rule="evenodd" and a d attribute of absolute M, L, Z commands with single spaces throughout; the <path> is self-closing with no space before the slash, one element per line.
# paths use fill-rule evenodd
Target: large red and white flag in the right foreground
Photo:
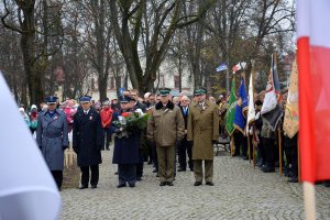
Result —
<path fill-rule="evenodd" d="M 298 0 L 301 180 L 330 179 L 330 1 Z"/>

